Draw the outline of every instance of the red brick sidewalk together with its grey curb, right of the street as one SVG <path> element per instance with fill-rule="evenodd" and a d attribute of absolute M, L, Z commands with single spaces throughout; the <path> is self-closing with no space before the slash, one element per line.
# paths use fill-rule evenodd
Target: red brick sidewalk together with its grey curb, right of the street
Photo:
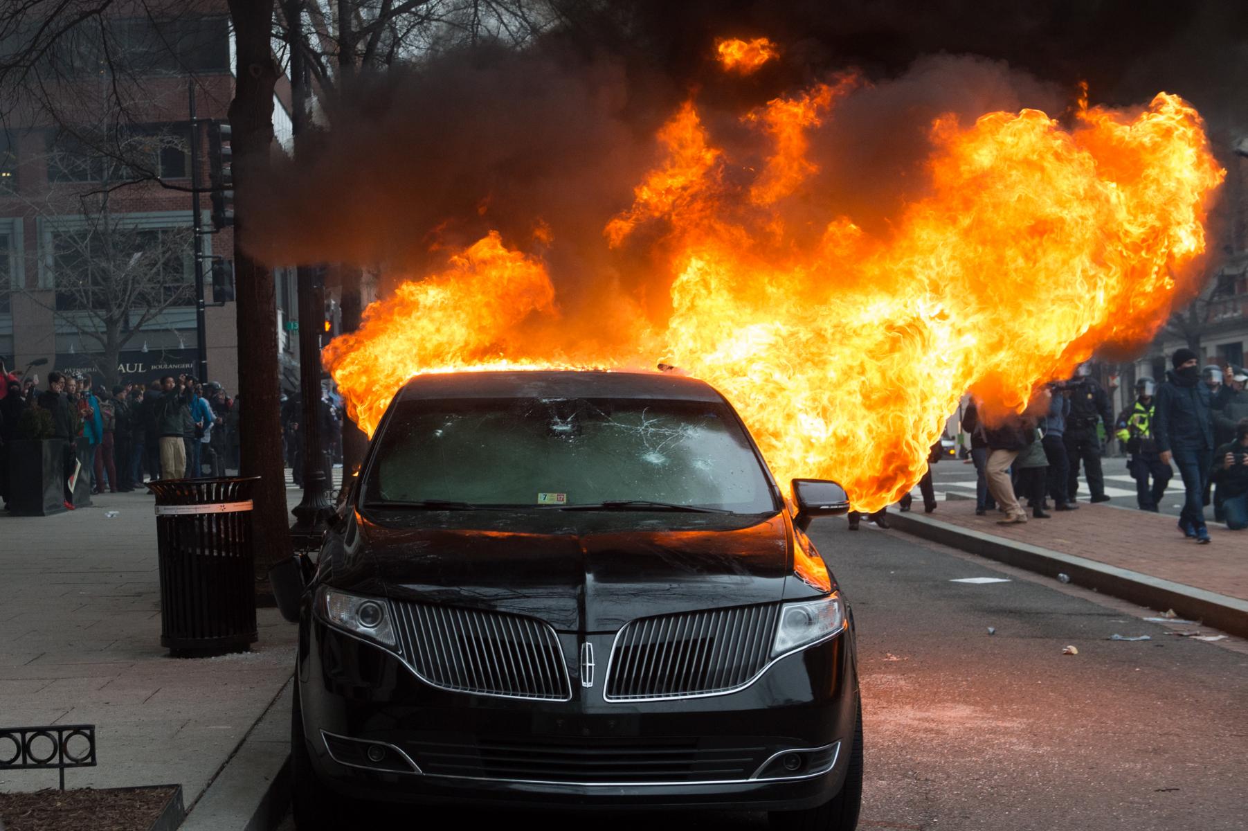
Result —
<path fill-rule="evenodd" d="M 1021 525 L 998 525 L 1000 518 L 976 517 L 970 499 L 941 502 L 926 515 L 889 513 L 916 537 L 1248 636 L 1248 532 L 1209 523 L 1213 543 L 1199 545 L 1173 517 L 1088 503 Z"/>

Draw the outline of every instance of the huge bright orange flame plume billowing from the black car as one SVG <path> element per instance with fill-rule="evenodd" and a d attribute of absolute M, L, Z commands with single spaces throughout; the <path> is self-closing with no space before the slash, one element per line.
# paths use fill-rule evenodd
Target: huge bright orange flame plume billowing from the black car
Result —
<path fill-rule="evenodd" d="M 1097 347 L 1147 342 L 1192 291 L 1224 172 L 1179 97 L 1081 101 L 1070 127 L 1037 110 L 938 119 L 925 195 L 872 236 L 804 190 L 811 131 L 857 84 L 746 112 L 761 158 L 716 141 L 694 100 L 671 116 L 603 236 L 668 270 L 665 324 L 639 314 L 629 342 L 589 344 L 545 271 L 558 240 L 490 233 L 329 344 L 349 413 L 371 434 L 423 372 L 661 361 L 733 402 L 781 482 L 836 479 L 874 510 L 922 475 L 962 393 L 1021 409 Z"/>

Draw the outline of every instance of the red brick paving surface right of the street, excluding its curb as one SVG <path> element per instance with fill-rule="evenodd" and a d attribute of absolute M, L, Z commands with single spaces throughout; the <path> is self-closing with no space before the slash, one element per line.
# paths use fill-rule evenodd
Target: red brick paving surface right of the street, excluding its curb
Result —
<path fill-rule="evenodd" d="M 915 500 L 916 509 L 922 503 Z M 920 509 L 921 510 L 921 509 Z M 1023 525 L 998 525 L 1001 514 L 975 515 L 975 502 L 941 502 L 932 519 L 982 534 L 1038 545 L 1184 585 L 1248 600 L 1248 530 L 1209 523 L 1213 543 L 1186 539 L 1173 517 L 1080 503 Z"/>

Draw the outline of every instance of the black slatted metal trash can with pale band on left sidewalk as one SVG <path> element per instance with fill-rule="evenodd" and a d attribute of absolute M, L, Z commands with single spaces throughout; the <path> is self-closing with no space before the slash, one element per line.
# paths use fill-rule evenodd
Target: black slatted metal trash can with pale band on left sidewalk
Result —
<path fill-rule="evenodd" d="M 161 646 L 238 653 L 256 643 L 252 490 L 260 477 L 151 482 Z"/>

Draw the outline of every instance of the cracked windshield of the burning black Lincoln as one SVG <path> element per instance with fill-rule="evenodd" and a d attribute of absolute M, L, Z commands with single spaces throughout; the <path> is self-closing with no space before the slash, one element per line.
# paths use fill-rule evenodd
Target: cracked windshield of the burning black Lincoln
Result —
<path fill-rule="evenodd" d="M 740 422 L 723 403 L 408 401 L 397 404 L 379 442 L 366 504 L 779 509 Z"/>

